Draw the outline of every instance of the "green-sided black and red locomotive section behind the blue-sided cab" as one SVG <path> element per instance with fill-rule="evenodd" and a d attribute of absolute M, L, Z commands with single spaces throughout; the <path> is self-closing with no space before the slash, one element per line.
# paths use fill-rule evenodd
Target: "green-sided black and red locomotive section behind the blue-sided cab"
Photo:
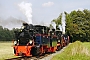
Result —
<path fill-rule="evenodd" d="M 57 49 L 57 36 L 55 35 L 55 29 L 50 29 L 48 32 L 49 42 L 47 52 L 55 52 Z"/>

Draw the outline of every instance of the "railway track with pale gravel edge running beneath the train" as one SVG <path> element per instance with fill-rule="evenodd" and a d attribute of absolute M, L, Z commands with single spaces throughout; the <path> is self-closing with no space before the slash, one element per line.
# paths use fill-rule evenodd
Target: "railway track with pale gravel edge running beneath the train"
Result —
<path fill-rule="evenodd" d="M 63 50 L 63 49 L 62 49 Z M 60 50 L 60 51 L 62 51 Z M 48 53 L 43 54 L 41 56 L 33 56 L 33 57 L 18 57 L 18 58 L 10 58 L 5 60 L 50 60 L 50 58 L 54 55 L 59 53 L 60 51 L 56 51 L 55 53 Z"/>

